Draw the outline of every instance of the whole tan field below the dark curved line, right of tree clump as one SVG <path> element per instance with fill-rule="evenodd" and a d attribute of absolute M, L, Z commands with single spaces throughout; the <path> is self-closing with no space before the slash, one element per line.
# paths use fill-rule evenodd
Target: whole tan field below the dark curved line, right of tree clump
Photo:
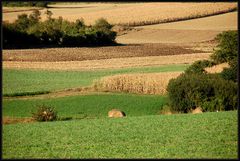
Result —
<path fill-rule="evenodd" d="M 201 43 L 213 40 L 225 30 L 237 30 L 238 12 L 206 18 L 136 27 L 135 31 L 117 37 L 118 43 Z"/>

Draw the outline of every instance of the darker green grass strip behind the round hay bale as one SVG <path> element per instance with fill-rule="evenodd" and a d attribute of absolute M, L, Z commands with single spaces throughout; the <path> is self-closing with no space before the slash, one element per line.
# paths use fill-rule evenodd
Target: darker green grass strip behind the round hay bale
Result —
<path fill-rule="evenodd" d="M 166 96 L 134 94 L 94 94 L 53 99 L 3 100 L 3 116 L 31 117 L 37 105 L 55 107 L 60 117 L 107 117 L 109 110 L 119 108 L 127 116 L 158 114 Z"/>

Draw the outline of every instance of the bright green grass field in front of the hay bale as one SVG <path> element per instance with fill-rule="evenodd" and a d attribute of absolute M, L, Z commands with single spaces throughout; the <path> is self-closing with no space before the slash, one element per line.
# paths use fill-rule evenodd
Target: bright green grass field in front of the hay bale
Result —
<path fill-rule="evenodd" d="M 3 158 L 237 158 L 237 112 L 3 126 Z"/>

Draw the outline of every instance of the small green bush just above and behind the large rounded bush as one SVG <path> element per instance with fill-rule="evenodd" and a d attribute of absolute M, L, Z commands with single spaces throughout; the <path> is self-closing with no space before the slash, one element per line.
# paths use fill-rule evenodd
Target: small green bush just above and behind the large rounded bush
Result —
<path fill-rule="evenodd" d="M 212 67 L 216 65 L 213 61 L 210 60 L 198 60 L 195 61 L 191 66 L 189 66 L 185 73 L 206 73 L 206 71 L 204 70 L 204 68 L 206 67 Z"/>

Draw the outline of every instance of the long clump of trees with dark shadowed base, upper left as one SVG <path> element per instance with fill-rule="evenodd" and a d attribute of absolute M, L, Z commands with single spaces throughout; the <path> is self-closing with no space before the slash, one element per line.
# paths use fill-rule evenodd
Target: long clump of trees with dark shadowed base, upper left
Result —
<path fill-rule="evenodd" d="M 14 23 L 3 23 L 3 48 L 33 48 L 41 46 L 98 46 L 115 44 L 116 32 L 112 25 L 101 18 L 93 26 L 83 19 L 75 22 L 52 18 L 40 21 L 40 12 L 19 15 Z"/>

